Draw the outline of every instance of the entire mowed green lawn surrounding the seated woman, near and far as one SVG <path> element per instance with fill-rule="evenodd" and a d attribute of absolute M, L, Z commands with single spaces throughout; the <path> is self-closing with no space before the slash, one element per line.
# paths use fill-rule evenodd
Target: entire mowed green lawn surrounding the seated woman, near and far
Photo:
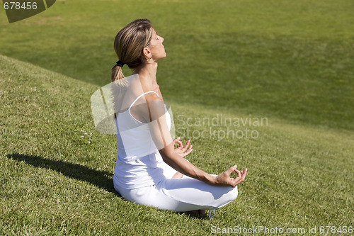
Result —
<path fill-rule="evenodd" d="M 350 8 L 57 1 L 12 24 L 1 10 L 0 234 L 209 235 L 264 226 L 309 235 L 314 226 L 353 227 Z M 116 139 L 96 132 L 90 97 L 110 82 L 114 36 L 135 18 L 150 18 L 165 38 L 158 82 L 176 134 L 192 139 L 190 162 L 211 174 L 249 169 L 239 197 L 212 220 L 137 206 L 113 189 Z"/>

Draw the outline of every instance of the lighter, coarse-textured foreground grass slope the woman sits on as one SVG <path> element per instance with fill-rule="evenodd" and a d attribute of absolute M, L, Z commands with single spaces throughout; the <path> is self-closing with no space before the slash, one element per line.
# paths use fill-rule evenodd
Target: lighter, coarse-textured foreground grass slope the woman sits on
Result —
<path fill-rule="evenodd" d="M 249 175 L 239 186 L 239 198 L 217 210 L 215 218 L 190 218 L 137 206 L 114 192 L 115 136 L 97 133 L 91 118 L 89 99 L 98 86 L 4 56 L 0 64 L 3 234 L 207 235 L 212 226 L 353 224 L 352 131 L 276 119 L 263 126 L 211 127 L 249 128 L 259 137 L 193 140 L 188 159 L 201 169 L 219 173 L 238 164 L 248 167 Z M 217 115 L 201 106 L 171 106 L 177 128 L 188 117 Z M 249 118 L 222 109 L 218 114 Z"/>

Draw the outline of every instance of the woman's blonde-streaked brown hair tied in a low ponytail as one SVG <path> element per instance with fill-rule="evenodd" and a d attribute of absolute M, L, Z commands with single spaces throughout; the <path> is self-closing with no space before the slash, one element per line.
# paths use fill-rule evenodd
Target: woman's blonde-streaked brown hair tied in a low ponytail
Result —
<path fill-rule="evenodd" d="M 114 50 L 121 62 L 130 69 L 138 67 L 147 58 L 143 54 L 144 47 L 149 47 L 152 40 L 152 23 L 148 19 L 137 19 L 122 28 L 114 40 Z M 122 67 L 112 67 L 112 82 L 124 78 Z"/>

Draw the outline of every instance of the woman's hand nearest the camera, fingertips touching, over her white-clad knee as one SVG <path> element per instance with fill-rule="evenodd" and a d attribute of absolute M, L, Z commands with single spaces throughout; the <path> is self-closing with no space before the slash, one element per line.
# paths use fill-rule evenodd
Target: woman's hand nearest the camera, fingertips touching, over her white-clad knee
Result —
<path fill-rule="evenodd" d="M 237 168 L 237 166 L 235 165 L 234 167 L 230 167 L 226 172 L 216 176 L 214 185 L 216 185 L 216 186 L 229 186 L 229 187 L 234 188 L 238 184 L 241 184 L 244 181 L 244 179 L 246 178 L 247 168 L 245 168 L 241 172 L 236 168 Z M 237 176 L 234 178 L 231 178 L 230 174 L 232 172 L 236 172 Z"/>

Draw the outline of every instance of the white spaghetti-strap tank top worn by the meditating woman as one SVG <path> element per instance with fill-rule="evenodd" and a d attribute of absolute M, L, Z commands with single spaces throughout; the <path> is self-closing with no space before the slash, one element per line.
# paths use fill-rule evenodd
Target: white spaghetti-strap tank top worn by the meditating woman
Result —
<path fill-rule="evenodd" d="M 130 113 L 132 105 L 147 91 L 132 102 L 127 111 L 115 118 L 117 135 L 117 162 L 113 176 L 114 184 L 125 189 L 136 189 L 157 184 L 163 178 L 162 160 L 159 150 L 150 135 L 149 124 L 136 120 Z M 171 129 L 171 116 L 165 106 L 166 123 Z"/>

